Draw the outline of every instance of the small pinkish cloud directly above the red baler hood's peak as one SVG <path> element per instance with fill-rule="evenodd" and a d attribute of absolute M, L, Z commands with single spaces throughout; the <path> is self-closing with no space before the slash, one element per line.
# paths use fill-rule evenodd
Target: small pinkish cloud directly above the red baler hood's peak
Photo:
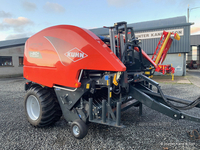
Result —
<path fill-rule="evenodd" d="M 57 3 L 46 2 L 46 4 L 43 6 L 43 8 L 47 12 L 56 12 L 56 13 L 65 12 L 65 8 Z"/>

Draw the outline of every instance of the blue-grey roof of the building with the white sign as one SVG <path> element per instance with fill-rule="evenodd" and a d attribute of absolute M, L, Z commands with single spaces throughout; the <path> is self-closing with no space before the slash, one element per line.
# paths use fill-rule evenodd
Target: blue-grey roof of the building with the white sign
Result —
<path fill-rule="evenodd" d="M 131 23 L 131 24 L 128 24 L 127 26 L 133 27 L 135 31 L 144 31 L 144 30 L 158 29 L 158 28 L 169 27 L 169 26 L 175 27 L 175 26 L 180 26 L 182 24 L 190 25 L 190 23 L 186 23 L 185 16 L 145 21 L 145 22 L 138 22 L 138 23 Z M 108 35 L 109 34 L 109 29 L 107 29 L 107 28 L 90 29 L 90 31 L 92 31 L 96 35 Z"/>

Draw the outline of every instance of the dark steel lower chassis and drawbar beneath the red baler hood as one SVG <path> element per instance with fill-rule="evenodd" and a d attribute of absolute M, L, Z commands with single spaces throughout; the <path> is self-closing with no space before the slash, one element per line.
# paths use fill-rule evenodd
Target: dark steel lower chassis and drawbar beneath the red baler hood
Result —
<path fill-rule="evenodd" d="M 121 112 L 131 107 L 139 107 L 139 115 L 142 115 L 143 104 L 175 120 L 200 122 L 200 118 L 185 114 L 169 105 L 169 102 L 176 102 L 188 107 L 191 101 L 164 95 L 159 84 L 142 72 L 123 72 L 118 80 L 121 91 L 116 94 L 113 89 L 115 74 L 116 72 L 107 72 L 99 77 L 82 78 L 80 88 L 59 85 L 55 85 L 54 88 L 41 87 L 49 89 L 56 95 L 63 117 L 71 125 L 72 134 L 75 137 L 74 126 L 79 126 L 80 135 L 76 137 L 78 139 L 87 134 L 86 124 L 89 122 L 124 128 L 121 122 Z M 36 84 L 27 82 L 25 90 Z M 155 88 L 152 90 L 153 86 L 157 88 L 156 92 Z M 100 90 L 95 91 L 95 88 Z M 104 95 L 103 99 L 99 100 L 96 96 L 98 94 Z M 191 105 L 192 108 L 200 108 L 199 99 L 195 101 L 195 105 Z M 193 138 L 190 132 L 188 136 Z"/>

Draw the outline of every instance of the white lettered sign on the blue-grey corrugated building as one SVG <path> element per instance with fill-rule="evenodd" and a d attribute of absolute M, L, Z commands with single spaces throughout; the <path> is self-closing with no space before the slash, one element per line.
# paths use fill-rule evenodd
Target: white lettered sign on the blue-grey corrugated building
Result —
<path fill-rule="evenodd" d="M 171 30 L 165 30 L 167 32 L 177 32 L 180 36 L 184 35 L 184 29 L 171 29 Z M 163 33 L 163 30 L 159 31 L 152 31 L 152 32 L 138 32 L 135 33 L 135 36 L 138 39 L 152 39 L 152 38 L 160 38 Z"/>

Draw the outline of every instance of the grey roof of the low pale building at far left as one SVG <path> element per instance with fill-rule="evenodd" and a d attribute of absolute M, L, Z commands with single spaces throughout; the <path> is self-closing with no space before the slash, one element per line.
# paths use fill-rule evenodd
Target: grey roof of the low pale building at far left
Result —
<path fill-rule="evenodd" d="M 0 41 L 0 48 L 24 45 L 28 38 Z"/>

